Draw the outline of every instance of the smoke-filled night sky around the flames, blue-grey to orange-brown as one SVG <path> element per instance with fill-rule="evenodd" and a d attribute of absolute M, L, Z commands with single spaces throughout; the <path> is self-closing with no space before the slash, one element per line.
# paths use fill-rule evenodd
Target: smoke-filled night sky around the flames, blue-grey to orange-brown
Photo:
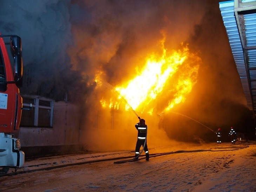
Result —
<path fill-rule="evenodd" d="M 94 75 L 112 85 L 155 48 L 188 43 L 202 64 L 198 81 L 176 111 L 217 129 L 251 121 L 217 0 L 2 0 L 0 31 L 22 38 L 21 93 L 88 103 Z M 90 108 L 90 106 L 88 106 Z M 168 115 L 167 115 L 168 117 Z"/>

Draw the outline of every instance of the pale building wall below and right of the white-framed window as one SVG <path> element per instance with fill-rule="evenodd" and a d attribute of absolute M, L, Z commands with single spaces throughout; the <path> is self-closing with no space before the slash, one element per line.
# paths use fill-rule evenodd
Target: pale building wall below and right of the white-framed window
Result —
<path fill-rule="evenodd" d="M 53 128 L 20 127 L 14 136 L 20 139 L 21 149 L 48 146 L 45 150 L 51 151 L 49 147 L 68 146 L 72 150 L 70 146 L 79 146 L 79 129 L 78 106 L 60 101 L 54 104 Z"/>

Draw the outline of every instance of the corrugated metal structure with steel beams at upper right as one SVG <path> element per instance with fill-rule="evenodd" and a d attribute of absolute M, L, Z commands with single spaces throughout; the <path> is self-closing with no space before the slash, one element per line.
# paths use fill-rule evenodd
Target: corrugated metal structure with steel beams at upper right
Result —
<path fill-rule="evenodd" d="M 227 31 L 249 109 L 256 114 L 256 0 L 220 2 Z"/>

